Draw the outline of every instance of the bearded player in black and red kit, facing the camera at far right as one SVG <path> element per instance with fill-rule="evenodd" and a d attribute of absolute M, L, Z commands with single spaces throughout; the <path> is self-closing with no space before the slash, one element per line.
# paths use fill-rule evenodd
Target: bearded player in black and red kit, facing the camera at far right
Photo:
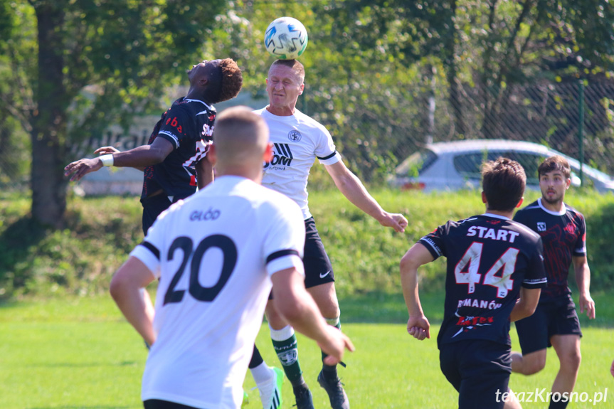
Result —
<path fill-rule="evenodd" d="M 546 365 L 546 349 L 554 346 L 561 366 L 552 386 L 551 409 L 566 408 L 580 368 L 580 322 L 567 287 L 569 265 L 576 272 L 580 312 L 595 318 L 591 271 L 586 260 L 586 224 L 581 213 L 563 203 L 571 184 L 566 159 L 551 156 L 538 168 L 541 198 L 516 213 L 518 221 L 544 241 L 548 287 L 541 293 L 535 314 L 516 323 L 522 354 L 512 354 L 512 371 L 531 375 Z"/>

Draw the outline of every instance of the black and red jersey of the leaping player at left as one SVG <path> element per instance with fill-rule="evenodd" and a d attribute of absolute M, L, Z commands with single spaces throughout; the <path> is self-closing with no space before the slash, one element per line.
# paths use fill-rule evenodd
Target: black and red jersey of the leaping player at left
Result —
<path fill-rule="evenodd" d="M 214 107 L 186 97 L 162 114 L 148 143 L 164 138 L 173 144 L 173 152 L 162 163 L 145 168 L 142 199 L 160 189 L 166 196 L 174 196 L 174 201 L 196 191 L 194 165 L 208 152 L 215 119 Z"/>

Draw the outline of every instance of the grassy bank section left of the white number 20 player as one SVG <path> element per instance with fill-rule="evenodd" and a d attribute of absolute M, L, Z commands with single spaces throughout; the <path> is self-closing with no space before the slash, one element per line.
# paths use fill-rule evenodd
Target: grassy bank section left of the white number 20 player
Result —
<path fill-rule="evenodd" d="M 53 230 L 28 216 L 28 199 L 0 200 L 0 297 L 92 294 L 142 239 L 141 208 L 129 198 L 74 201 L 67 227 Z"/>

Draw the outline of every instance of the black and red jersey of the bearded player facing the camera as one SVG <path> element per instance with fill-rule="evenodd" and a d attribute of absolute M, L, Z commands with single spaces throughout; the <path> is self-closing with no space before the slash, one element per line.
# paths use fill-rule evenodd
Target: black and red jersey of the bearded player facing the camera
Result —
<path fill-rule="evenodd" d="M 567 276 L 572 257 L 586 256 L 584 216 L 571 206 L 564 206 L 561 213 L 549 211 L 539 198 L 514 216 L 514 221 L 536 231 L 544 243 L 548 286 L 541 292 L 540 302 L 571 294 Z"/>

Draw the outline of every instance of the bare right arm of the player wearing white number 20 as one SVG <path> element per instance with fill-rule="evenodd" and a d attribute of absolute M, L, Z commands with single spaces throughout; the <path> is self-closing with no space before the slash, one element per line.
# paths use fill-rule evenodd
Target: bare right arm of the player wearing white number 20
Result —
<path fill-rule="evenodd" d="M 275 309 L 297 331 L 317 341 L 322 351 L 329 355 L 324 363 L 335 365 L 342 360 L 345 349 L 354 351 L 351 340 L 324 320 L 314 299 L 305 290 L 304 277 L 295 268 L 275 272 L 271 281 Z"/>

